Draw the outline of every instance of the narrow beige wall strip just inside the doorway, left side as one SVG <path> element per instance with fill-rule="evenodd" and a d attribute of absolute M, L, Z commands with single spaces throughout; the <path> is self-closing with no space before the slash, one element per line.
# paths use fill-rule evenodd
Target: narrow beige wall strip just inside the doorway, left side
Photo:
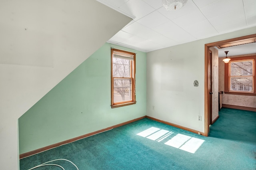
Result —
<path fill-rule="evenodd" d="M 219 115 L 219 80 L 218 80 L 218 50 L 210 47 L 212 50 L 212 121 Z"/>

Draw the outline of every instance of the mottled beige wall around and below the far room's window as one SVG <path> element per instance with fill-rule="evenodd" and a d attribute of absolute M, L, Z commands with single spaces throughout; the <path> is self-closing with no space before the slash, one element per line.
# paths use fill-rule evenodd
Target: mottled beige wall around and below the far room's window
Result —
<path fill-rule="evenodd" d="M 237 56 L 233 56 L 237 57 Z M 219 91 L 224 91 L 224 57 L 219 58 Z M 222 104 L 256 108 L 256 96 L 222 95 Z"/>

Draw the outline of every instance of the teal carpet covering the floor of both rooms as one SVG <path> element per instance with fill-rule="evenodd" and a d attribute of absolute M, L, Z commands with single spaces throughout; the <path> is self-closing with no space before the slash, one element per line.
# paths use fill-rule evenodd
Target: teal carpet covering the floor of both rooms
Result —
<path fill-rule="evenodd" d="M 23 158 L 20 170 L 59 158 L 79 170 L 256 170 L 255 123 L 256 112 L 222 108 L 205 137 L 145 118 Z"/>

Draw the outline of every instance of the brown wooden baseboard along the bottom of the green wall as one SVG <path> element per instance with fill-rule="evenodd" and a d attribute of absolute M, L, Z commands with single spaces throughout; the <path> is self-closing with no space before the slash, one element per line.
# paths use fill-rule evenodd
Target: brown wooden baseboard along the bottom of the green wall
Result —
<path fill-rule="evenodd" d="M 108 128 L 104 128 L 104 129 L 101 129 L 101 130 L 97 130 L 95 132 L 91 132 L 91 133 L 88 133 L 88 134 L 84 134 L 82 136 L 78 136 L 78 137 L 75 137 L 75 138 L 72 138 L 72 139 L 68 139 L 68 140 L 65 140 L 65 141 L 62 141 L 62 142 L 58 142 L 56 144 L 52 144 L 52 145 L 49 145 L 49 146 L 45 146 L 43 148 L 39 148 L 39 149 L 36 149 L 36 150 L 32 150 L 30 152 L 26 152 L 24 154 L 20 154 L 20 159 L 22 158 L 25 158 L 25 157 L 28 157 L 28 156 L 31 156 L 31 155 L 34 155 L 34 154 L 38 154 L 40 152 L 44 152 L 46 150 L 49 150 L 49 149 L 52 149 L 52 148 L 56 148 L 58 146 L 61 146 L 63 144 L 68 144 L 68 143 L 71 143 L 71 142 L 74 142 L 76 140 L 80 140 L 82 138 L 86 138 L 86 137 L 89 137 L 89 136 L 92 136 L 94 134 L 98 134 L 98 133 L 101 133 L 101 132 L 104 132 L 104 131 L 107 131 L 107 130 L 111 130 L 112 128 L 117 128 L 117 127 L 121 127 L 121 126 L 124 126 L 124 125 L 127 125 L 129 123 L 132 123 L 132 122 L 135 122 L 135 121 L 139 121 L 140 119 L 144 119 L 146 116 L 143 116 L 143 117 L 139 117 L 137 119 L 133 119 L 131 121 L 127 121 L 127 122 L 124 122 L 124 123 L 120 123 L 118 125 L 114 125 L 112 127 L 108 127 Z"/>

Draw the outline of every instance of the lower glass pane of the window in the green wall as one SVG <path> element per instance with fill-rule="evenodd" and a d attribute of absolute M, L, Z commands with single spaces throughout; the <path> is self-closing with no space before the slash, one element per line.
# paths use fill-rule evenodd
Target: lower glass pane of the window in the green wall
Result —
<path fill-rule="evenodd" d="M 132 79 L 114 78 L 114 103 L 132 100 Z"/>

